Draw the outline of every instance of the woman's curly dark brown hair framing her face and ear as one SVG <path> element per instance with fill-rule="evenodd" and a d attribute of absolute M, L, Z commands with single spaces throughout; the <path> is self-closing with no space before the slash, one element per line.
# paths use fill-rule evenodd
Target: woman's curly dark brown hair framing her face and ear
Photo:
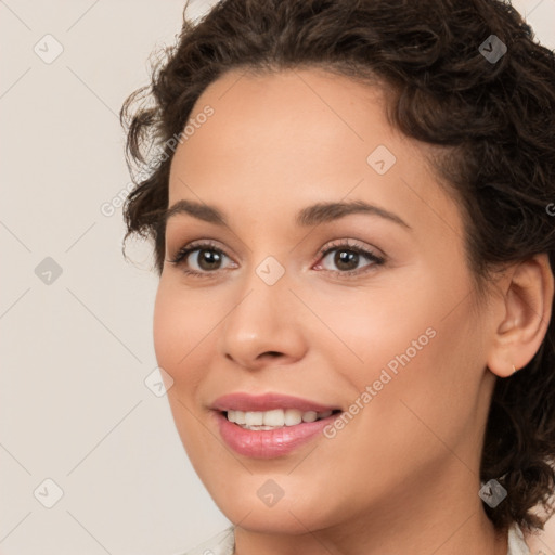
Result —
<path fill-rule="evenodd" d="M 534 41 L 508 3 L 223 0 L 196 22 L 186 10 L 178 43 L 155 64 L 152 82 L 121 108 L 130 171 L 147 165 L 134 176 L 135 189 L 124 206 L 124 256 L 129 235 L 153 238 L 162 273 L 162 216 L 176 137 L 206 87 L 232 68 L 306 66 L 377 79 L 390 93 L 391 125 L 442 146 L 434 165 L 464 214 L 478 292 L 487 289 L 494 268 L 535 254 L 547 253 L 555 269 L 555 55 Z M 487 56 L 493 44 L 498 60 Z M 152 146 L 162 157 L 149 156 Z M 483 505 L 498 530 L 514 521 L 543 529 L 546 519 L 531 509 L 554 512 L 554 454 L 552 317 L 530 363 L 495 383 L 480 479 L 494 478 L 507 490 L 498 506 Z"/>

